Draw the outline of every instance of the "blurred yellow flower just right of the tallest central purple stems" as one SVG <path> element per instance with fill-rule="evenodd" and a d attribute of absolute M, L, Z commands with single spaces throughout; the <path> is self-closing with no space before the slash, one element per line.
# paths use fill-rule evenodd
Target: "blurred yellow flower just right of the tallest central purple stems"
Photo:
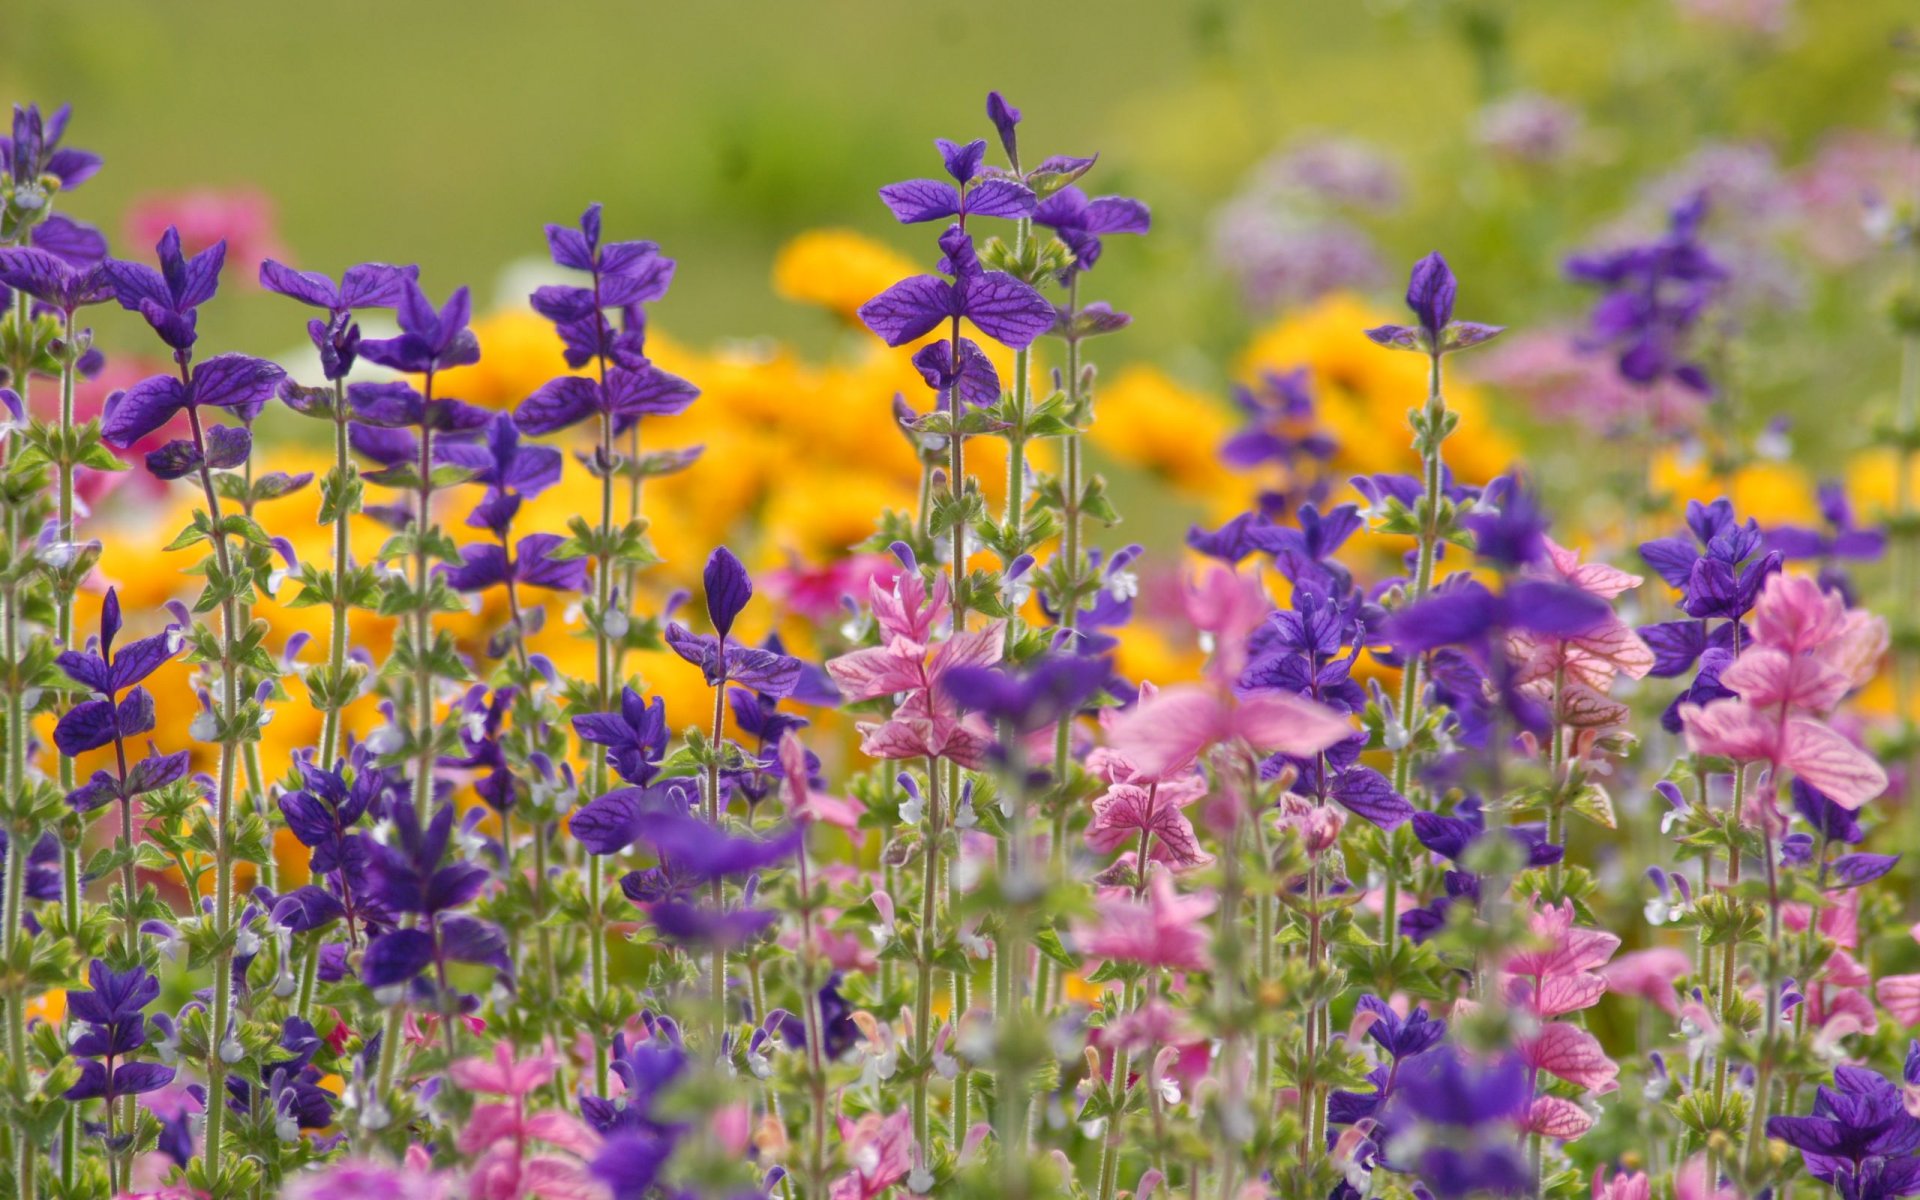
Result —
<path fill-rule="evenodd" d="M 1219 444 L 1233 428 L 1225 405 L 1156 367 L 1127 367 L 1102 386 L 1094 417 L 1094 445 L 1181 492 L 1217 493 L 1233 478 L 1219 463 Z"/>

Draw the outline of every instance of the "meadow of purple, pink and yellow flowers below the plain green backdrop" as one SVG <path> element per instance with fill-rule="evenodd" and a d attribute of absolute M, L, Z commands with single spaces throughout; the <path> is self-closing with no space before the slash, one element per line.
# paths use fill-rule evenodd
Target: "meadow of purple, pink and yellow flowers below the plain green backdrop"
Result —
<path fill-rule="evenodd" d="M 1204 217 L 962 60 L 756 261 L 812 344 L 13 98 L 0 1196 L 1920 1194 L 1920 27 L 1657 167 L 1501 29 Z"/>

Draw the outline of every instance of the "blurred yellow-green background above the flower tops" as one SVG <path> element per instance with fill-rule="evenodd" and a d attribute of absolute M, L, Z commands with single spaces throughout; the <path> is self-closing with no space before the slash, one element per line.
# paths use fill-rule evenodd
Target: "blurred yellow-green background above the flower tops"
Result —
<path fill-rule="evenodd" d="M 1561 255 L 1703 140 L 1795 163 L 1832 129 L 1891 129 L 1912 0 L 1761 4 L 1776 6 L 1784 31 L 1753 33 L 1672 0 L 10 0 L 0 92 L 75 106 L 73 142 L 108 167 L 67 211 L 119 253 L 150 253 L 123 232 L 142 194 L 257 186 L 300 265 L 419 261 L 432 294 L 472 282 L 486 303 L 503 267 L 543 252 L 541 223 L 601 200 L 612 234 L 682 261 L 662 328 L 818 346 L 833 324 L 772 294 L 778 246 L 845 225 L 931 261 L 929 232 L 893 225 L 874 188 L 935 175 L 937 134 L 989 136 L 981 102 L 1000 88 L 1025 146 L 1098 150 L 1096 190 L 1154 207 L 1154 236 L 1100 267 L 1137 315 L 1102 357 L 1217 390 L 1258 315 L 1215 265 L 1213 213 L 1302 136 L 1365 138 L 1405 171 L 1404 202 L 1363 221 L 1392 275 L 1444 248 L 1463 315 L 1526 324 L 1578 309 Z M 1476 109 L 1515 88 L 1584 111 L 1578 163 L 1515 173 L 1476 150 Z M 1809 384 L 1885 388 L 1870 300 L 1822 280 L 1782 336 L 1753 330 L 1763 407 Z M 104 319 L 108 338 L 125 319 Z M 257 294 L 205 321 L 221 349 L 298 340 Z M 1793 334 L 1809 326 L 1820 338 Z M 1811 430 L 1812 449 L 1839 434 Z"/>

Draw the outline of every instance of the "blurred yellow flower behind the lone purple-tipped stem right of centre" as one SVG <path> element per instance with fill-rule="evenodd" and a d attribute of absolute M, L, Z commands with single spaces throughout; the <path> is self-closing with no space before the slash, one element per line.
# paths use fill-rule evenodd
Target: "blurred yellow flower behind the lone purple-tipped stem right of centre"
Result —
<path fill-rule="evenodd" d="M 1329 296 L 1277 321 L 1240 357 L 1242 378 L 1294 367 L 1311 371 L 1315 413 L 1340 444 L 1334 457 L 1340 474 L 1419 467 L 1407 411 L 1427 399 L 1427 359 L 1367 338 L 1367 328 L 1390 319 L 1352 296 Z M 1453 474 L 1484 482 L 1507 470 L 1517 447 L 1494 428 L 1486 399 L 1459 372 L 1446 380 L 1446 403 L 1461 419 L 1446 444 Z"/>

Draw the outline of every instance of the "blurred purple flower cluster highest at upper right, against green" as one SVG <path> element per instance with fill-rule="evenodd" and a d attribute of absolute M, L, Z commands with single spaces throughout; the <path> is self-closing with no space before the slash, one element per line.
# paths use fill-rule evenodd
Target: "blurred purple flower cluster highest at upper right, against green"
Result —
<path fill-rule="evenodd" d="M 1611 351 L 1630 382 L 1672 378 L 1693 392 L 1713 390 L 1705 367 L 1690 357 L 1692 332 L 1728 280 L 1699 240 L 1705 215 L 1707 194 L 1697 192 L 1674 205 L 1665 236 L 1567 259 L 1569 278 L 1603 292 L 1586 346 Z"/>

